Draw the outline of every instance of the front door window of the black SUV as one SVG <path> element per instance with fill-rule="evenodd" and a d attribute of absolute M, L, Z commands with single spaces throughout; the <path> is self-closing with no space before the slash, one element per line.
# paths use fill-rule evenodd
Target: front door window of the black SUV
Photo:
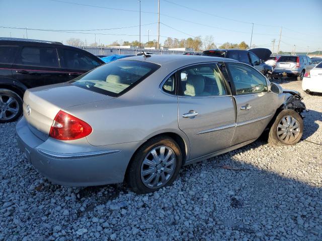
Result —
<path fill-rule="evenodd" d="M 91 70 L 100 66 L 101 63 L 81 51 L 63 50 L 63 67 L 75 70 Z"/>

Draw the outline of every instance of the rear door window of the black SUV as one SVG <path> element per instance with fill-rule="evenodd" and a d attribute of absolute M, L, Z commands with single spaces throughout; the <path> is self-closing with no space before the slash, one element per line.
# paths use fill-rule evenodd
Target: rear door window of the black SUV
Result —
<path fill-rule="evenodd" d="M 53 48 L 25 47 L 15 62 L 31 66 L 59 67 L 57 50 Z"/>

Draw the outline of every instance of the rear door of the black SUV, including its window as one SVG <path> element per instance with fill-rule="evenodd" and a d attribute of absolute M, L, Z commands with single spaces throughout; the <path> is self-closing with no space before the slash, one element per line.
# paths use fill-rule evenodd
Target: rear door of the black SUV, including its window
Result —
<path fill-rule="evenodd" d="M 62 82 L 56 48 L 22 47 L 13 64 L 13 77 L 28 88 Z"/>

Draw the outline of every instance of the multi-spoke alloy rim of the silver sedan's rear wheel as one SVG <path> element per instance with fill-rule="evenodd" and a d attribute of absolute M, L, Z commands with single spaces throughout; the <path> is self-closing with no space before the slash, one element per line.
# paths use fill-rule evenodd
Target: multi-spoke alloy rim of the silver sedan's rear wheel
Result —
<path fill-rule="evenodd" d="M 175 152 L 167 146 L 152 149 L 141 165 L 141 180 L 148 188 L 158 188 L 165 185 L 175 172 Z"/>

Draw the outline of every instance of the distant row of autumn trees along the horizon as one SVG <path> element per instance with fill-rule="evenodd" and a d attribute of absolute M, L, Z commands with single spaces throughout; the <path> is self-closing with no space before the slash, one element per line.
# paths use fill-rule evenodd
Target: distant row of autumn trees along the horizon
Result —
<path fill-rule="evenodd" d="M 87 43 L 84 43 L 80 39 L 75 39 L 75 38 L 70 38 L 66 41 L 67 45 L 71 46 L 84 46 L 87 45 Z M 96 47 L 99 46 L 97 43 L 92 43 L 89 44 L 90 46 Z M 140 43 L 139 41 L 135 40 L 132 42 L 129 41 L 114 41 L 111 44 L 100 44 L 100 46 L 139 46 Z M 163 47 L 168 47 L 168 48 L 192 48 L 194 51 L 201 51 L 201 50 L 206 50 L 206 49 L 248 49 L 249 46 L 246 44 L 245 41 L 241 41 L 239 44 L 238 43 L 229 43 L 226 42 L 219 47 L 217 47 L 216 43 L 214 42 L 214 37 L 213 36 L 206 36 L 205 38 L 201 38 L 200 36 L 194 37 L 194 38 L 187 38 L 187 39 L 176 39 L 176 38 L 167 38 L 163 45 Z M 141 43 L 141 47 L 155 47 L 157 48 L 157 41 L 155 39 Z"/>

